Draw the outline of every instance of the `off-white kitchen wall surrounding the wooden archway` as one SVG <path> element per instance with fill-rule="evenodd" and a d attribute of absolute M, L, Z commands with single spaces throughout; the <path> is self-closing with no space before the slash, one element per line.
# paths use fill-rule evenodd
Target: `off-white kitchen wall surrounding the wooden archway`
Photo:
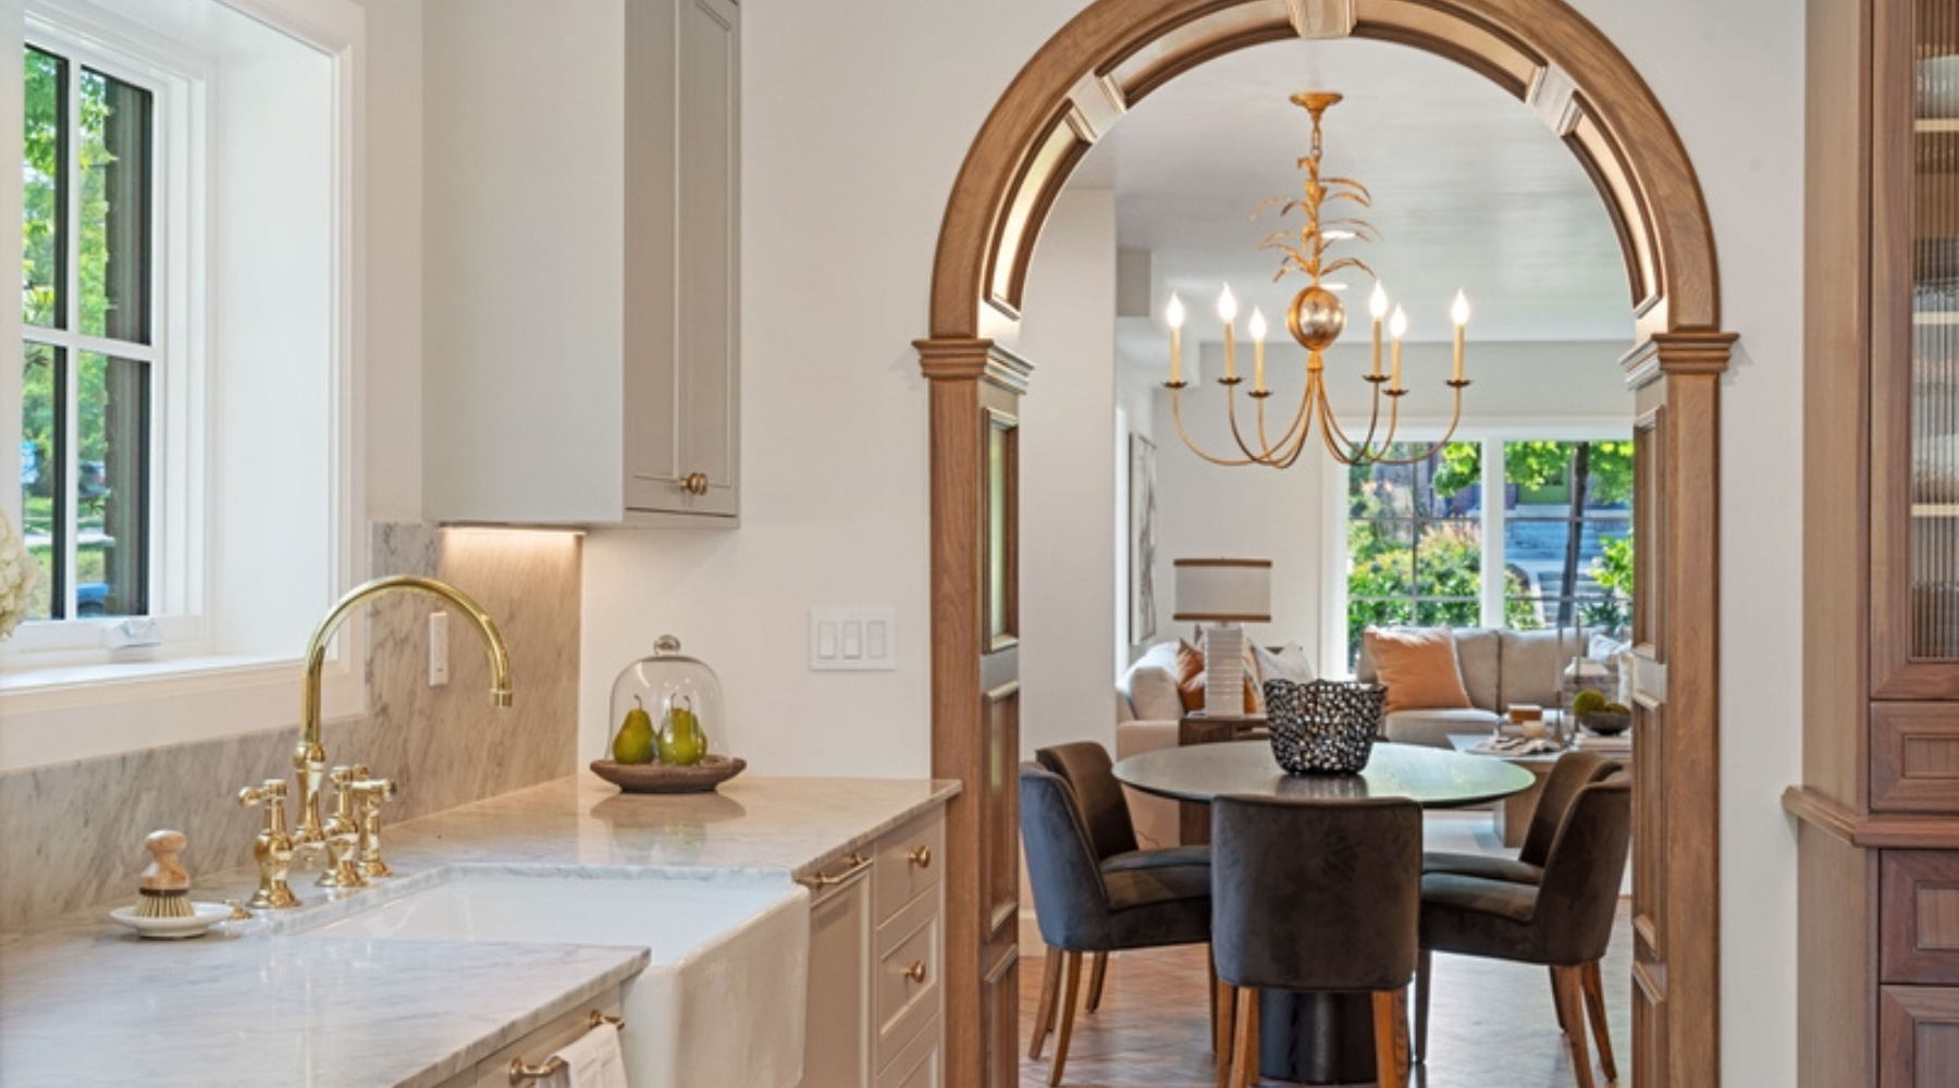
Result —
<path fill-rule="evenodd" d="M 721 671 L 735 748 L 756 771 L 927 771 L 927 421 L 911 340 L 927 333 L 938 219 L 972 135 L 1077 8 L 742 4 L 742 528 L 588 540 L 586 753 L 605 734 L 596 708 L 617 669 L 672 630 Z M 1577 8 L 1671 112 L 1718 231 L 1724 323 L 1742 333 L 1720 571 L 1724 1063 L 1730 1084 L 1789 1084 L 1794 851 L 1777 793 L 1796 781 L 1800 720 L 1789 315 L 1800 305 L 1802 14 L 1787 0 Z M 1062 366 L 1046 360 L 1036 397 Z M 1763 479 L 1789 487 L 1740 483 Z M 897 607 L 899 671 L 809 673 L 807 609 L 876 603 Z"/>

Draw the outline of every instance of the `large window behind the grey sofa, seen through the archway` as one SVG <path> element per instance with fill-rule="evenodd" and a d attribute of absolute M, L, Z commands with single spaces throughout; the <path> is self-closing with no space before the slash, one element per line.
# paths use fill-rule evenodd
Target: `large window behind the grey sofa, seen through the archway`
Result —
<path fill-rule="evenodd" d="M 1416 458 L 1405 444 L 1391 460 Z M 1371 624 L 1632 622 L 1632 440 L 1487 436 L 1348 470 L 1346 654 Z"/>

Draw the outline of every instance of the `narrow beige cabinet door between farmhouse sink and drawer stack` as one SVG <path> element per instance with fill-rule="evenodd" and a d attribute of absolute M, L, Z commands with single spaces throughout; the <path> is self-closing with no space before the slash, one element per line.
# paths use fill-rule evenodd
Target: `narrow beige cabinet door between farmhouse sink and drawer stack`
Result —
<path fill-rule="evenodd" d="M 803 1088 L 870 1084 L 870 875 L 809 904 L 809 1002 Z"/>

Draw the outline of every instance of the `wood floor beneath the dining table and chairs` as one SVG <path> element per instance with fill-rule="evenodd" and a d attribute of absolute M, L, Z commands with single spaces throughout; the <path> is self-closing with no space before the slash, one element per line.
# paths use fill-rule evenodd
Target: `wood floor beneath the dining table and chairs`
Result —
<path fill-rule="evenodd" d="M 1430 849 L 1501 851 L 1487 832 L 1487 814 L 1428 818 Z M 1514 853 L 1514 851 L 1512 851 Z M 1021 1086 L 1048 1082 L 1054 1039 L 1040 1061 L 1027 1059 L 1028 1031 L 1040 998 L 1044 947 L 1023 945 L 1021 957 Z M 1632 1084 L 1632 922 L 1620 900 L 1612 947 L 1604 959 L 1606 1012 L 1620 1084 Z M 1593 1051 L 1593 1078 L 1599 1055 Z M 1211 1027 L 1205 1000 L 1205 949 L 1150 949 L 1109 961 L 1101 1010 L 1075 1016 L 1062 1084 L 1074 1088 L 1209 1088 Z M 1283 1084 L 1271 1082 L 1266 1084 Z M 1550 975 L 1485 959 L 1436 955 L 1428 1023 L 1428 1061 L 1409 1078 L 1418 1088 L 1571 1088 L 1571 1057 L 1552 1010 Z"/>

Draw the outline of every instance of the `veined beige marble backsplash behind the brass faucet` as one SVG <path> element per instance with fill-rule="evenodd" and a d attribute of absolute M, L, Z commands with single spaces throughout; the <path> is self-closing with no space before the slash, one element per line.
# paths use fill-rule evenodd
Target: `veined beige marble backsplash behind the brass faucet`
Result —
<path fill-rule="evenodd" d="M 449 685 L 429 687 L 427 595 L 390 595 L 347 622 L 368 624 L 368 712 L 321 726 L 329 763 L 366 763 L 398 785 L 386 826 L 572 773 L 578 748 L 580 548 L 568 532 L 376 524 L 370 569 L 443 579 L 484 607 L 509 650 L 511 706 L 490 704 L 490 659 L 474 626 L 449 620 Z M 321 609 L 325 612 L 325 609 Z M 304 636 L 294 652 L 304 648 Z M 294 679 L 298 718 L 298 679 Z M 241 787 L 292 771 L 290 728 L 129 751 L 0 775 L 0 931 L 90 904 L 133 902 L 143 836 L 190 836 L 196 875 L 251 863 L 259 810 Z M 302 898 L 321 894 L 294 875 Z"/>

